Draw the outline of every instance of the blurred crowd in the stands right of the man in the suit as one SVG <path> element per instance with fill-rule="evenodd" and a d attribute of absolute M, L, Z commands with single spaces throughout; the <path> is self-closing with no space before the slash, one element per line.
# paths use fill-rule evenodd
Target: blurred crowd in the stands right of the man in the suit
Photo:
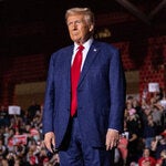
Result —
<path fill-rule="evenodd" d="M 117 165 L 166 165 L 166 105 L 163 98 L 159 93 L 153 94 L 149 102 L 144 97 L 141 102 L 127 97 Z"/>

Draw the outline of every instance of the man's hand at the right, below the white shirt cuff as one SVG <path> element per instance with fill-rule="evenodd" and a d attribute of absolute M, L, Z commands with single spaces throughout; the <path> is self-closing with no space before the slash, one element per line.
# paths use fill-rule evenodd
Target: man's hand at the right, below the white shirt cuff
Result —
<path fill-rule="evenodd" d="M 106 142 L 105 142 L 106 151 L 110 151 L 113 147 L 117 146 L 118 138 L 120 138 L 118 131 L 108 128 L 106 133 Z"/>

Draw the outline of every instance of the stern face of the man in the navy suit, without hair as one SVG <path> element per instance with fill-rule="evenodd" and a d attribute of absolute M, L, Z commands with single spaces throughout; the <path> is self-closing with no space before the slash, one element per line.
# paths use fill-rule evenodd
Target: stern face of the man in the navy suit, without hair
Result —
<path fill-rule="evenodd" d="M 77 44 L 84 43 L 92 32 L 92 25 L 87 24 L 82 14 L 70 15 L 66 20 L 72 41 Z"/>

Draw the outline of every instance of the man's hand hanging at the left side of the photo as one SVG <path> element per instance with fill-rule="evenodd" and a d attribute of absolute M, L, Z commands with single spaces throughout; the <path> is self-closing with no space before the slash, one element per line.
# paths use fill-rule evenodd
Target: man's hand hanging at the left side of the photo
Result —
<path fill-rule="evenodd" d="M 44 144 L 46 148 L 53 153 L 52 146 L 55 146 L 55 135 L 53 132 L 49 132 L 44 135 Z"/>

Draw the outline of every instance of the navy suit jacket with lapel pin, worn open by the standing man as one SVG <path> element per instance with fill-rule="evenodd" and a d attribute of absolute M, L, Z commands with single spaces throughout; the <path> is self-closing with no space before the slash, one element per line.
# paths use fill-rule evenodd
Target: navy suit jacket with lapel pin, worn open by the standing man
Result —
<path fill-rule="evenodd" d="M 43 134 L 54 132 L 59 148 L 70 120 L 73 46 L 52 54 L 46 82 Z M 77 120 L 82 138 L 94 147 L 105 145 L 108 128 L 123 129 L 125 79 L 117 49 L 93 41 L 77 86 Z"/>

